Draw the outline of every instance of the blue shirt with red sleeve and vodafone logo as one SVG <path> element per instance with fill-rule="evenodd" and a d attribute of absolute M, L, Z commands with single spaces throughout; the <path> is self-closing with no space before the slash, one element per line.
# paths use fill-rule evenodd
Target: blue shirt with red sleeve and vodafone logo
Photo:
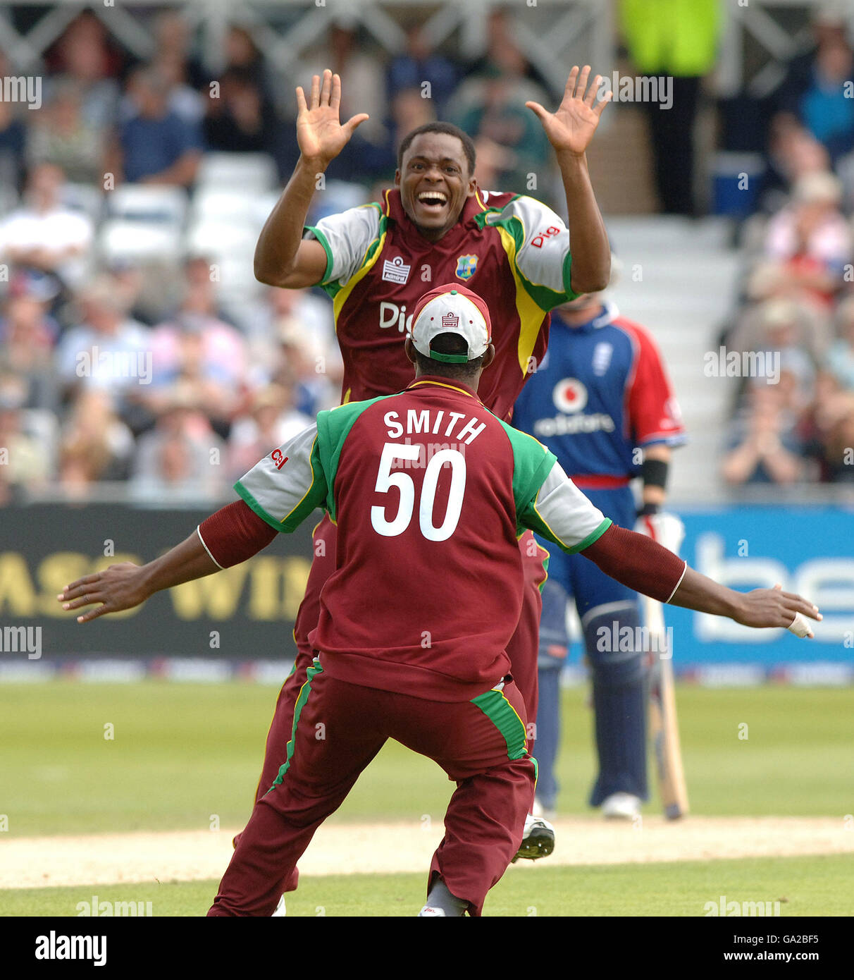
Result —
<path fill-rule="evenodd" d="M 513 424 L 542 439 L 573 476 L 635 476 L 636 447 L 686 440 L 652 337 L 612 303 L 581 325 L 554 315 L 546 359 L 519 396 Z"/>

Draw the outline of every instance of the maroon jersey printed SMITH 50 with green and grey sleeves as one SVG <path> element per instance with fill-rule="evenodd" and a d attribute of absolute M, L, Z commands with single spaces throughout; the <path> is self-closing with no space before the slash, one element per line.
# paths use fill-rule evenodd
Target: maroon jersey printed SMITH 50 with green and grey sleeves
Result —
<path fill-rule="evenodd" d="M 278 530 L 318 506 L 338 526 L 309 635 L 324 669 L 437 701 L 476 697 L 509 671 L 523 530 L 579 551 L 610 524 L 541 443 L 438 375 L 321 412 L 236 489 Z"/>

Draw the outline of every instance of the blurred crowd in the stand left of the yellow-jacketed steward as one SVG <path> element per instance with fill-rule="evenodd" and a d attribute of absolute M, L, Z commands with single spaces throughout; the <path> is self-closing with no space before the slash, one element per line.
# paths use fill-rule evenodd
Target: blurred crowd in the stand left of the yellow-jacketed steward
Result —
<path fill-rule="evenodd" d="M 432 53 L 416 23 L 388 58 L 339 19 L 284 77 L 240 25 L 213 72 L 177 11 L 153 17 L 148 63 L 93 14 L 75 18 L 46 52 L 41 105 L 0 100 L 0 505 L 57 488 L 84 498 L 106 481 L 139 502 L 221 496 L 338 404 L 325 296 L 254 284 L 251 301 L 223 303 L 217 249 L 197 242 L 159 268 L 117 258 L 101 202 L 129 185 L 180 188 L 192 202 L 217 154 L 263 154 L 286 179 L 299 153 L 294 87 L 327 67 L 346 79 L 342 118 L 370 122 L 327 173 L 337 189 L 321 207 L 371 199 L 403 133 L 438 117 L 476 136 L 483 185 L 524 189 L 551 166 L 524 104 L 555 93 L 508 24 L 491 16 L 486 54 L 466 64 Z M 13 74 L 0 55 L 0 75 Z"/>

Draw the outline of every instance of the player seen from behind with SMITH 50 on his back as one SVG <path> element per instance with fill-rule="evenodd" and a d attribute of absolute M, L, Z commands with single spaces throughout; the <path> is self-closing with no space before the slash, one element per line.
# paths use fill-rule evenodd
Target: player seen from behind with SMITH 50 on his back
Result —
<path fill-rule="evenodd" d="M 456 782 L 420 914 L 481 914 L 534 799 L 525 705 L 506 654 L 526 527 L 661 601 L 753 626 L 797 621 L 805 632 L 804 616 L 820 618 L 779 589 L 720 586 L 602 515 L 545 446 L 478 398 L 492 339 L 477 294 L 453 283 L 427 293 L 405 343 L 416 375 L 403 391 L 321 412 L 237 482 L 241 501 L 166 555 L 111 565 L 60 596 L 65 609 L 101 603 L 78 617 L 91 620 L 245 561 L 315 508 L 336 522 L 337 568 L 321 590 L 292 735 L 209 915 L 270 915 L 316 828 L 389 738 Z"/>

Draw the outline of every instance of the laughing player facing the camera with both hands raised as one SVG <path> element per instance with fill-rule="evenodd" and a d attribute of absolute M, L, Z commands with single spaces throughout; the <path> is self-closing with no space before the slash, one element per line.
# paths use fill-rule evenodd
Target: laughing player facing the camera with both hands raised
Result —
<path fill-rule="evenodd" d="M 261 231 L 255 271 L 269 285 L 318 285 L 333 299 L 344 360 L 342 402 L 388 395 L 408 383 L 412 367 L 403 342 L 415 304 L 432 283 L 454 281 L 500 310 L 496 357 L 484 374 L 480 397 L 498 417 L 509 419 L 532 359 L 540 361 L 546 351 L 548 311 L 579 293 L 603 288 L 608 280 L 610 248 L 585 151 L 609 94 L 596 103 L 599 76 L 590 87 L 589 78 L 589 67 L 573 68 L 554 114 L 539 103 L 528 104 L 554 147 L 568 228 L 531 197 L 482 191 L 473 176 L 474 144 L 449 123 L 427 123 L 403 137 L 395 186 L 382 201 L 306 227 L 323 172 L 367 117 L 359 114 L 341 123 L 337 74 L 324 72 L 322 80 L 314 75 L 308 101 L 297 89 L 301 158 Z M 308 634 L 317 625 L 320 589 L 336 568 L 335 535 L 334 523 L 324 516 L 314 529 L 313 561 L 294 630 L 297 661 L 276 704 L 259 794 L 275 777 L 291 737 L 294 706 L 311 665 Z M 530 535 L 520 549 L 527 588 L 509 656 L 533 719 L 539 585 L 545 569 Z M 551 827 L 531 819 L 520 857 L 548 854 L 553 841 Z M 296 888 L 296 880 L 283 890 Z"/>

